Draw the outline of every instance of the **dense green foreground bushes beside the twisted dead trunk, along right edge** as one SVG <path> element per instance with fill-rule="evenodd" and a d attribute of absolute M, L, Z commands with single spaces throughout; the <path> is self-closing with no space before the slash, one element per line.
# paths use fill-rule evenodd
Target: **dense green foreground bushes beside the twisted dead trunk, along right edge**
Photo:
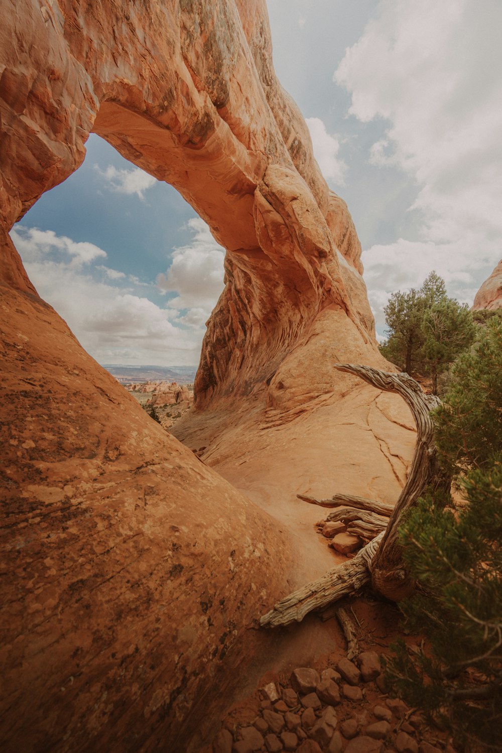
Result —
<path fill-rule="evenodd" d="M 410 654 L 401 642 L 388 682 L 442 721 L 458 745 L 498 749 L 502 728 L 502 323 L 488 323 L 452 370 L 435 413 L 445 468 L 458 474 L 458 508 L 424 495 L 400 526 L 403 556 L 418 581 L 402 602 L 427 636 Z M 461 475 L 459 475 L 461 474 Z"/>

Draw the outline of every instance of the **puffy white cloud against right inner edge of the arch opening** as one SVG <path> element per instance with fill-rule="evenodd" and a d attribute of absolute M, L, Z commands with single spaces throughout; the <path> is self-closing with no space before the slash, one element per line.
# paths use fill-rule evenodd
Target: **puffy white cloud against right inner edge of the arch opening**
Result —
<path fill-rule="evenodd" d="M 188 309 L 179 322 L 200 326 L 223 290 L 225 249 L 214 240 L 203 220 L 196 218 L 187 224 L 193 240 L 190 245 L 175 248 L 171 266 L 157 276 L 157 285 L 166 293 L 177 293 L 166 304 L 176 316 Z"/>

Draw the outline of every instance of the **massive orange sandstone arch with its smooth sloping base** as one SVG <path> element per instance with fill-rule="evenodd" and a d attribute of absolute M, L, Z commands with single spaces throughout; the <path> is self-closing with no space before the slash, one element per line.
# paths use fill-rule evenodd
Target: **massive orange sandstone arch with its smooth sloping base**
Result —
<path fill-rule="evenodd" d="M 197 751 L 269 641 L 248 628 L 324 559 L 297 558 L 300 508 L 278 526 L 81 349 L 8 230 L 91 131 L 178 188 L 227 248 L 179 434 L 272 516 L 396 498 L 409 414 L 333 370 L 385 361 L 262 0 L 4 0 L 0 50 L 0 747 Z"/>

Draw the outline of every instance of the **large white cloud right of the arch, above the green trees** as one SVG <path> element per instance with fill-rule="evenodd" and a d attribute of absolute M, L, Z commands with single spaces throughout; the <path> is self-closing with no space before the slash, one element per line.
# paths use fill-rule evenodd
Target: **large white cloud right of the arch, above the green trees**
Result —
<path fill-rule="evenodd" d="M 370 162 L 398 166 L 416 185 L 415 236 L 364 253 L 373 306 L 432 269 L 472 303 L 500 257 L 501 23 L 497 0 L 381 0 L 334 74 L 350 114 L 387 123 Z"/>

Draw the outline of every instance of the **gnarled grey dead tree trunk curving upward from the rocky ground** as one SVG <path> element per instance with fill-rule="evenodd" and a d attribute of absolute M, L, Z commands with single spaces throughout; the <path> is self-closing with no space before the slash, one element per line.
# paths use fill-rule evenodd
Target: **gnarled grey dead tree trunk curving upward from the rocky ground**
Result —
<path fill-rule="evenodd" d="M 418 496 L 426 486 L 431 486 L 433 489 L 449 488 L 449 478 L 441 474 L 437 466 L 434 447 L 434 423 L 431 410 L 440 404 L 439 398 L 434 395 L 425 395 L 421 386 L 406 373 L 386 373 L 368 366 L 354 364 L 335 365 L 341 371 L 361 377 L 377 389 L 397 392 L 401 395 L 409 406 L 417 427 L 415 455 L 409 469 L 408 479 L 391 512 L 385 530 L 373 538 L 350 562 L 345 562 L 330 570 L 318 581 L 313 581 L 281 599 L 271 611 L 261 617 L 260 625 L 262 626 L 272 627 L 287 625 L 294 620 L 300 621 L 309 611 L 326 607 L 330 602 L 335 602 L 348 593 L 354 593 L 370 580 L 373 590 L 388 599 L 399 601 L 409 596 L 415 583 L 410 578 L 403 562 L 397 534 L 400 517 L 404 511 L 415 505 Z M 338 500 L 341 496 L 336 495 L 333 499 Z M 337 505 L 351 504 L 346 499 L 348 495 L 344 496 L 345 501 L 337 501 Z M 369 509 L 362 505 L 370 504 L 371 501 L 356 499 L 361 502 L 361 509 Z M 308 498 L 307 501 L 317 504 L 314 498 Z M 322 500 L 324 501 L 327 500 Z"/>

